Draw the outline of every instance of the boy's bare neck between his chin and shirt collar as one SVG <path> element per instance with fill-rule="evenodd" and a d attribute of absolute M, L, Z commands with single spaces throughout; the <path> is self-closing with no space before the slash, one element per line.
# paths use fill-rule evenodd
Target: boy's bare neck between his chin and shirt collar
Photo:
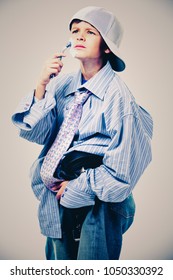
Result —
<path fill-rule="evenodd" d="M 85 80 L 91 79 L 103 67 L 103 61 L 81 61 L 81 72 Z"/>

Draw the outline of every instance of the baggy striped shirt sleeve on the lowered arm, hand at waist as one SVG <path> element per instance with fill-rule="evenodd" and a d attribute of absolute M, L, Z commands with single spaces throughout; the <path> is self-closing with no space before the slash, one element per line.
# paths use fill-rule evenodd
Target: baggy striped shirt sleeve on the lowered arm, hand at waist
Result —
<path fill-rule="evenodd" d="M 125 116 L 107 148 L 103 165 L 88 169 L 70 181 L 61 204 L 69 208 L 91 205 L 94 196 L 105 202 L 123 201 L 151 161 L 150 142 L 141 121 L 133 115 Z M 78 193 L 81 192 L 85 201 L 80 204 Z"/>

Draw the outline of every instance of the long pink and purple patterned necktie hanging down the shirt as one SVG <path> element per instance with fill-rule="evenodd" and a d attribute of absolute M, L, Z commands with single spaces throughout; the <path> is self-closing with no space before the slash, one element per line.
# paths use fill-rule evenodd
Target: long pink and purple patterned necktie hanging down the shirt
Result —
<path fill-rule="evenodd" d="M 84 102 L 89 97 L 89 92 L 85 91 L 83 93 L 76 92 L 74 102 L 65 119 L 60 127 L 60 130 L 49 149 L 47 155 L 44 158 L 42 167 L 41 167 L 41 177 L 43 183 L 51 189 L 56 183 L 62 182 L 62 179 L 55 178 L 54 172 L 63 157 L 64 153 L 68 150 L 73 137 L 77 131 L 81 115 L 82 115 L 82 106 Z"/>

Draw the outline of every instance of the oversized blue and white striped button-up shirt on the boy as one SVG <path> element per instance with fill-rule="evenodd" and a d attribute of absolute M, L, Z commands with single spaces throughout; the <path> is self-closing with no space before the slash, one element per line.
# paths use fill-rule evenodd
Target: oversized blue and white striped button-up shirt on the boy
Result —
<path fill-rule="evenodd" d="M 103 164 L 87 169 L 68 183 L 60 203 L 68 208 L 93 205 L 95 196 L 105 202 L 128 197 L 151 161 L 151 116 L 133 95 L 109 62 L 84 85 L 81 71 L 60 74 L 47 85 L 45 98 L 34 102 L 34 92 L 19 104 L 12 120 L 20 136 L 44 148 L 31 168 L 32 188 L 40 200 L 41 232 L 61 237 L 58 201 L 40 177 L 43 158 L 50 148 L 73 94 L 85 86 L 91 92 L 83 106 L 78 132 L 67 151 L 85 151 L 104 156 Z"/>

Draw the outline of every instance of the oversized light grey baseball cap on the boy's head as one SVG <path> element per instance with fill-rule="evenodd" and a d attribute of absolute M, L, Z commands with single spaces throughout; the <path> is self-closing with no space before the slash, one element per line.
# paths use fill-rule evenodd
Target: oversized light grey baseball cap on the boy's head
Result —
<path fill-rule="evenodd" d="M 69 28 L 75 19 L 86 21 L 94 26 L 111 50 L 108 60 L 115 71 L 125 69 L 125 63 L 120 58 L 119 46 L 123 35 L 122 27 L 117 18 L 102 7 L 89 6 L 79 10 L 70 20 Z"/>

